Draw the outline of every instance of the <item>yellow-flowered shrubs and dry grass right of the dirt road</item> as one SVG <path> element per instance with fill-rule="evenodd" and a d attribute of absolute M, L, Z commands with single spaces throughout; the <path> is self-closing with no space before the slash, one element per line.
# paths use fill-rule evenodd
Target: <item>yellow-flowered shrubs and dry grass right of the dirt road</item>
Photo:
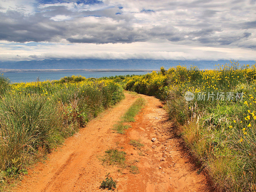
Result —
<path fill-rule="evenodd" d="M 216 188 L 256 191 L 255 65 L 230 61 L 213 70 L 161 68 L 124 82 L 126 90 L 165 101 L 179 134 Z"/>

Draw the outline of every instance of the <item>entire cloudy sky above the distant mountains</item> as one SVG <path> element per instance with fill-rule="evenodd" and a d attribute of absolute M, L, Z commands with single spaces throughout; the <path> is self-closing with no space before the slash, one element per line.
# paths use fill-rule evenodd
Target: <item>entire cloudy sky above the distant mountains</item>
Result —
<path fill-rule="evenodd" d="M 0 61 L 256 60 L 256 0 L 0 0 Z"/>

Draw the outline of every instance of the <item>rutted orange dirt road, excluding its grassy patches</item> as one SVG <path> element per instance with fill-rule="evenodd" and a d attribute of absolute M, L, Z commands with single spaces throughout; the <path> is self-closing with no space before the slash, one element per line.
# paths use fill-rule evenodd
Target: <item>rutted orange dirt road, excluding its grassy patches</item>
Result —
<path fill-rule="evenodd" d="M 146 106 L 131 123 L 126 134 L 113 132 L 112 128 L 139 95 L 125 92 L 125 99 L 87 124 L 64 146 L 29 170 L 21 184 L 14 189 L 20 192 L 107 191 L 99 189 L 105 175 L 117 180 L 116 191 L 125 192 L 199 192 L 209 191 L 204 175 L 197 174 L 172 133 L 166 111 L 154 97 L 141 95 Z M 156 142 L 151 138 L 155 137 Z M 140 150 L 129 144 L 138 139 L 144 144 Z M 100 157 L 108 148 L 122 147 L 126 159 L 138 166 L 138 174 L 103 166 Z M 153 147 L 152 147 L 153 146 Z M 161 158 L 164 158 L 160 161 Z"/>

